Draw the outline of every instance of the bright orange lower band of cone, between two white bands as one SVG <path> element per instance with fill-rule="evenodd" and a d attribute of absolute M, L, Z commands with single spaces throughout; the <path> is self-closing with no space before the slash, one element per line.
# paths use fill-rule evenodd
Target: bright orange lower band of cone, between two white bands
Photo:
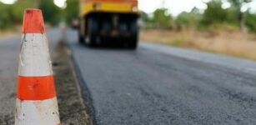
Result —
<path fill-rule="evenodd" d="M 53 75 L 46 77 L 18 77 L 20 100 L 44 100 L 56 96 Z"/>

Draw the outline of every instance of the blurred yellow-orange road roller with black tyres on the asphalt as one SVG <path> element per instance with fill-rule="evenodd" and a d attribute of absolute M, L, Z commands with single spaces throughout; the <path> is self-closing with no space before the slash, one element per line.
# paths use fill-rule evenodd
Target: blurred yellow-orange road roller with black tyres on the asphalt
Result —
<path fill-rule="evenodd" d="M 138 0 L 81 0 L 79 42 L 138 45 Z"/>

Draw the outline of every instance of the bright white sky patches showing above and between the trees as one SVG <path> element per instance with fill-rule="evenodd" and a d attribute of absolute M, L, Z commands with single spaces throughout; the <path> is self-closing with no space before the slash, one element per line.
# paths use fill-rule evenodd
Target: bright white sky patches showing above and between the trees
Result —
<path fill-rule="evenodd" d="M 17 0 L 0 0 L 1 2 L 12 4 Z M 164 2 L 163 2 L 164 1 Z M 190 12 L 193 7 L 198 7 L 200 10 L 207 8 L 205 2 L 209 0 L 138 0 L 138 7 L 146 13 L 153 13 L 158 7 L 166 7 L 173 16 L 177 16 L 182 12 Z M 58 7 L 66 7 L 66 0 L 54 0 Z M 223 4 L 223 8 L 229 7 L 228 2 Z M 252 3 L 244 5 L 242 11 L 247 10 L 248 7 L 252 8 L 252 12 L 256 12 L 256 0 Z"/>

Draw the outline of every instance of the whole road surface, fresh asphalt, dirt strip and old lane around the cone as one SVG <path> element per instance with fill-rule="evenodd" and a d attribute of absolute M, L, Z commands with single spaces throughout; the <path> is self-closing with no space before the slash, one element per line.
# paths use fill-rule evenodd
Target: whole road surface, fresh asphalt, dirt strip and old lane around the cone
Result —
<path fill-rule="evenodd" d="M 256 124 L 256 63 L 142 42 L 138 50 L 68 42 L 83 102 L 98 125 Z M 91 124 L 68 55 L 48 30 L 62 123 Z M 0 124 L 13 124 L 21 36 L 0 39 Z"/>

